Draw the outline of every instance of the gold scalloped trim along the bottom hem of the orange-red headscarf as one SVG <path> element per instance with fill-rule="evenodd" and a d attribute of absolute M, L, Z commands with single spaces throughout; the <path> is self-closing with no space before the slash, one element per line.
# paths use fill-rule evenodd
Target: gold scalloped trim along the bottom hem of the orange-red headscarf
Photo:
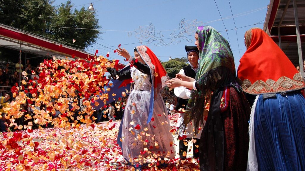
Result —
<path fill-rule="evenodd" d="M 274 92 L 285 92 L 305 88 L 304 78 L 300 73 L 296 73 L 293 79 L 280 77 L 277 81 L 267 79 L 266 82 L 257 80 L 253 84 L 248 79 L 242 82 L 242 89 L 249 94 L 266 94 Z"/>

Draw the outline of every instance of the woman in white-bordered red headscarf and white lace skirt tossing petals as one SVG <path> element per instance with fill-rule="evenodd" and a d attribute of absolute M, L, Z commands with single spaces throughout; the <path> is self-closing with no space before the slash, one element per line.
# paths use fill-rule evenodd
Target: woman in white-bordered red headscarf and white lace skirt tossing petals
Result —
<path fill-rule="evenodd" d="M 124 48 L 117 52 L 131 63 L 131 68 L 122 73 L 114 68 L 108 70 L 113 78 L 132 79 L 133 84 L 122 120 L 123 156 L 136 168 L 142 167 L 147 158 L 160 158 L 163 164 L 164 158 L 175 156 L 170 122 L 160 94 L 169 77 L 159 59 L 146 46 L 134 49 L 135 58 Z"/>

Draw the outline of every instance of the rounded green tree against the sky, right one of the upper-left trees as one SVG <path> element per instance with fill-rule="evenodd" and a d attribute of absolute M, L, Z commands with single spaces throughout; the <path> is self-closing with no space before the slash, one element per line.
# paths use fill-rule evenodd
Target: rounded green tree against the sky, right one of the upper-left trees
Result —
<path fill-rule="evenodd" d="M 71 1 L 62 3 L 56 9 L 56 16 L 52 17 L 52 22 L 48 25 L 47 33 L 52 38 L 67 43 L 69 46 L 77 48 L 89 47 L 99 38 L 99 30 L 85 30 L 85 29 L 99 29 L 99 20 L 93 11 L 86 10 L 84 6 L 80 9 L 72 9 Z M 85 28 L 85 29 L 68 29 L 60 27 Z"/>

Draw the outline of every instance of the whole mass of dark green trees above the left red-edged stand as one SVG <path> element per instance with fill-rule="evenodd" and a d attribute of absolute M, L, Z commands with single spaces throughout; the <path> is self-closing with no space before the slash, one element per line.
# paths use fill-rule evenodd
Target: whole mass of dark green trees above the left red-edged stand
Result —
<path fill-rule="evenodd" d="M 99 30 L 59 27 L 99 29 L 99 20 L 84 6 L 72 7 L 71 1 L 54 7 L 51 0 L 0 0 L 0 23 L 85 49 L 99 38 Z"/>

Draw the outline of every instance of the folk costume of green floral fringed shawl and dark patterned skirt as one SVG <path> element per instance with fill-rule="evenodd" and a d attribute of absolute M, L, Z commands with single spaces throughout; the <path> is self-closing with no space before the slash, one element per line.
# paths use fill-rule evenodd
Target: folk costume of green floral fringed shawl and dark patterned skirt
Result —
<path fill-rule="evenodd" d="M 227 40 L 211 26 L 197 27 L 199 67 L 185 113 L 195 130 L 210 109 L 199 145 L 200 170 L 244 171 L 249 146 L 250 107 L 235 77 L 234 58 Z M 212 93 L 213 92 L 213 93 Z"/>

